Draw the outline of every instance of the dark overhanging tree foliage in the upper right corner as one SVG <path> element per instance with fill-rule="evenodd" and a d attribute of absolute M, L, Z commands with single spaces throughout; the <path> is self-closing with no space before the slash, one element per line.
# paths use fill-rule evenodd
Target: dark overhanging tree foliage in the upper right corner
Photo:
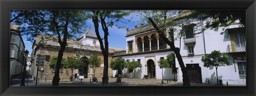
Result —
<path fill-rule="evenodd" d="M 205 21 L 205 29 L 218 30 L 219 27 L 228 27 L 237 20 L 246 26 L 245 10 L 193 10 L 188 18 Z"/>

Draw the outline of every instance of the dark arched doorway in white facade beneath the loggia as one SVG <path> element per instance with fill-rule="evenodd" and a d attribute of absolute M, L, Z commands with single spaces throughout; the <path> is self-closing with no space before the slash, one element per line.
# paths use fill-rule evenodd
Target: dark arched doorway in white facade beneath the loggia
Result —
<path fill-rule="evenodd" d="M 155 67 L 155 62 L 152 59 L 147 60 L 147 73 L 149 78 L 154 78 L 156 77 L 156 67 Z"/>

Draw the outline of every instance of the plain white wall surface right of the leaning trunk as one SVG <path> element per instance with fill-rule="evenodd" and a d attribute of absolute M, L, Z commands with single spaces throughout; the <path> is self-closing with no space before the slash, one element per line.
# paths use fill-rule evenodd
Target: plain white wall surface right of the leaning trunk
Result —
<path fill-rule="evenodd" d="M 228 28 L 238 28 L 238 25 L 230 25 Z M 179 31 L 177 30 L 177 32 Z M 199 30 L 197 30 L 196 32 L 199 32 Z M 224 32 L 224 34 L 220 34 L 221 32 Z M 220 50 L 222 53 L 226 53 L 227 46 L 231 44 L 230 35 L 227 33 L 227 31 L 222 30 L 222 28 L 219 28 L 218 31 L 205 30 L 204 36 L 205 36 L 206 54 L 210 54 L 213 50 Z M 217 84 L 215 67 L 206 68 L 203 66 L 203 63 L 201 61 L 202 56 L 204 56 L 203 35 L 202 33 L 196 34 L 195 37 L 196 37 L 196 43 L 194 46 L 195 56 L 189 56 L 189 57 L 186 57 L 188 56 L 188 48 L 184 43 L 184 39 L 183 38 L 181 39 L 180 54 L 181 56 L 185 56 L 185 57 L 182 57 L 183 62 L 185 66 L 186 64 L 199 64 L 202 70 L 202 82 L 208 83 L 208 80 L 210 80 L 210 83 Z M 179 39 L 175 41 L 175 46 L 179 47 Z M 199 56 L 196 56 L 196 55 L 199 55 Z M 226 84 L 226 82 L 228 82 L 229 84 L 245 85 L 246 80 L 239 79 L 237 61 L 235 60 L 235 63 L 234 63 L 233 58 L 232 57 L 230 58 L 231 58 L 230 62 L 232 65 L 221 66 L 218 68 L 219 79 L 223 81 L 223 84 Z M 191 63 L 191 60 L 193 60 L 193 63 Z M 243 62 L 245 62 L 245 60 Z M 179 66 L 179 62 L 177 58 L 176 58 L 176 66 L 177 67 Z M 235 72 L 235 66 L 236 66 L 236 72 Z M 179 81 L 182 81 L 182 72 L 180 67 L 178 72 L 179 72 L 178 79 Z"/>

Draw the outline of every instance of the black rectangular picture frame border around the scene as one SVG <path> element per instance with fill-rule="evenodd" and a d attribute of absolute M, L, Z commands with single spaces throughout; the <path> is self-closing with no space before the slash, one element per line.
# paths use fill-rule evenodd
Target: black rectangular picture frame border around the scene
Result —
<path fill-rule="evenodd" d="M 255 0 L 1 0 L 0 95 L 255 95 Z M 127 87 L 26 87 L 10 86 L 10 10 L 246 10 L 246 87 L 127 86 Z"/>

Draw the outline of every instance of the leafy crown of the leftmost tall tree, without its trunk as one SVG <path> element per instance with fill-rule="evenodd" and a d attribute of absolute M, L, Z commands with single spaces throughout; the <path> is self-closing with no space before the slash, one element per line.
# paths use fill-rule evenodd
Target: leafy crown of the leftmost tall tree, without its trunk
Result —
<path fill-rule="evenodd" d="M 31 42 L 35 40 L 38 34 L 58 36 L 57 29 L 53 24 L 53 17 L 58 23 L 60 36 L 64 36 L 65 25 L 68 23 L 68 39 L 76 39 L 84 32 L 85 20 L 87 20 L 86 13 L 81 10 L 15 10 L 11 11 L 10 15 L 11 19 L 18 16 L 12 23 L 20 25 L 21 34 L 27 36 L 27 40 Z M 66 22 L 67 19 L 68 22 Z"/>

